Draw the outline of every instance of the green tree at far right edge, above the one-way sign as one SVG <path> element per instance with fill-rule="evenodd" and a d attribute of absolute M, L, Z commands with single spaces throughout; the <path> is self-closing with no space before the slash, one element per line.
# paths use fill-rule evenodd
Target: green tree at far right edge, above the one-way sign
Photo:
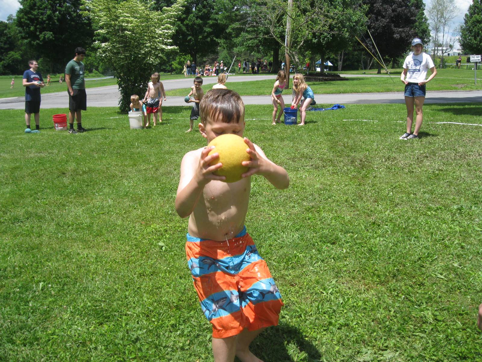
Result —
<path fill-rule="evenodd" d="M 460 27 L 460 46 L 467 54 L 482 54 L 482 1 L 473 0 Z"/>

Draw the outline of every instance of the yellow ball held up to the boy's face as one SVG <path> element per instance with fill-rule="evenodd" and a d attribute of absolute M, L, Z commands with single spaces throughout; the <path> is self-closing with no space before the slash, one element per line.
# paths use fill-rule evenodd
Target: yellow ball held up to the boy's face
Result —
<path fill-rule="evenodd" d="M 241 175 L 249 169 L 249 167 L 242 166 L 241 162 L 251 160 L 251 157 L 246 152 L 248 145 L 244 143 L 244 140 L 237 135 L 226 134 L 213 139 L 209 142 L 209 146 L 215 146 L 209 154 L 219 153 L 219 159 L 215 159 L 211 165 L 215 165 L 218 162 L 223 164 L 223 167 L 213 172 L 214 175 L 226 176 L 226 182 L 241 180 Z"/>

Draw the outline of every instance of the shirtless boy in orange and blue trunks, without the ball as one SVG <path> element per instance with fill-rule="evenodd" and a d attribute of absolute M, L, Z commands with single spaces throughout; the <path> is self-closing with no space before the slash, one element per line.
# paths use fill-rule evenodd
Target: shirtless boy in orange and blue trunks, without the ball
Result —
<path fill-rule="evenodd" d="M 213 89 L 201 101 L 202 137 L 210 142 L 222 134 L 240 137 L 244 131 L 244 104 L 229 89 Z M 194 287 L 206 318 L 212 323 L 215 362 L 260 362 L 249 350 L 265 328 L 278 324 L 283 303 L 268 265 L 259 255 L 244 221 L 248 211 L 251 176 L 265 177 L 277 189 L 289 185 L 286 170 L 268 160 L 263 151 L 245 138 L 249 167 L 240 181 L 223 182 L 210 166 L 218 153 L 201 147 L 185 154 L 175 208 L 189 217 L 186 255 Z"/>

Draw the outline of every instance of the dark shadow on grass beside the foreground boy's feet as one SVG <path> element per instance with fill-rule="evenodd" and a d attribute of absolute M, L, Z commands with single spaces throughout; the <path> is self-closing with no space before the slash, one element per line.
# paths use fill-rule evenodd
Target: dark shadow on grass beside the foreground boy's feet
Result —
<path fill-rule="evenodd" d="M 267 328 L 253 341 L 251 351 L 267 362 L 321 361 L 316 347 L 299 329 L 287 324 Z"/>

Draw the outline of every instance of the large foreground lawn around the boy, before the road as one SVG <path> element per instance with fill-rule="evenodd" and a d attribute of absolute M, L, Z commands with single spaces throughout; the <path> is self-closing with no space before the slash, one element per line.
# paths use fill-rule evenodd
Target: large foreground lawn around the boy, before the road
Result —
<path fill-rule="evenodd" d="M 347 82 L 348 83 L 348 82 Z M 88 132 L 25 134 L 0 111 L 0 360 L 212 361 L 174 198 L 189 107 L 130 130 L 116 108 Z M 252 181 L 246 224 L 285 306 L 254 342 L 271 361 L 480 361 L 480 104 L 426 105 L 422 138 L 398 139 L 405 106 L 310 112 L 245 135 L 291 179 Z"/>

